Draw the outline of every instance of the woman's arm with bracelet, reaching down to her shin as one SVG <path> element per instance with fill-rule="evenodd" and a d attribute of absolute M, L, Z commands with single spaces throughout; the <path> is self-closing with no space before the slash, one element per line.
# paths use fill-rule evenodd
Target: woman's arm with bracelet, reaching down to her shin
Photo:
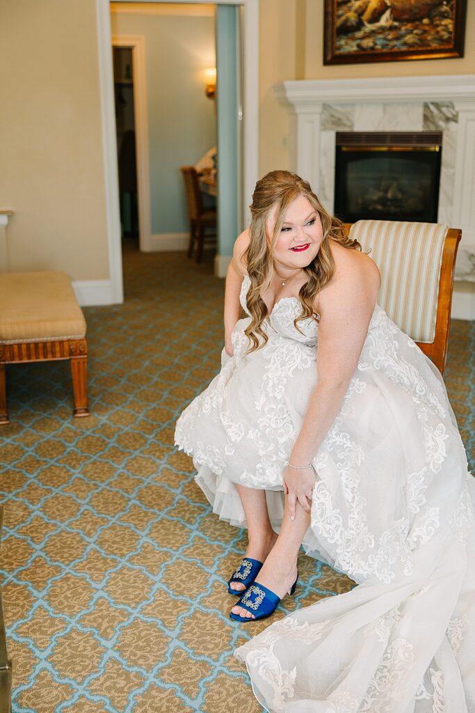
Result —
<path fill-rule="evenodd" d="M 375 263 L 361 253 L 350 251 L 343 256 L 342 263 L 328 287 L 318 295 L 318 383 L 289 458 L 293 466 L 311 463 L 335 421 L 375 309 L 380 286 Z M 295 515 L 296 501 L 309 511 L 306 498 L 315 484 L 312 469 L 296 470 L 287 466 L 283 480 L 291 517 Z"/>

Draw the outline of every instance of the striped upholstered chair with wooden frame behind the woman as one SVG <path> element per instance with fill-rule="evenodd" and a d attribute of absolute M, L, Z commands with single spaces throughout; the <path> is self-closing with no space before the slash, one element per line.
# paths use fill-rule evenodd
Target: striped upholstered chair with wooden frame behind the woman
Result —
<path fill-rule="evenodd" d="M 391 220 L 358 220 L 345 227 L 363 252 L 371 251 L 380 269 L 377 303 L 443 376 L 461 230 L 439 223 Z"/>

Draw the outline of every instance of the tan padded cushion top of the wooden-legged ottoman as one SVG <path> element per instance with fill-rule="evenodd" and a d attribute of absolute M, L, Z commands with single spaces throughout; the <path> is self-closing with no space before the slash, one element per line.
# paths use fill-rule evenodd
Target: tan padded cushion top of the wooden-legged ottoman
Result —
<path fill-rule="evenodd" d="M 82 339 L 85 330 L 66 272 L 0 275 L 0 344 Z"/>

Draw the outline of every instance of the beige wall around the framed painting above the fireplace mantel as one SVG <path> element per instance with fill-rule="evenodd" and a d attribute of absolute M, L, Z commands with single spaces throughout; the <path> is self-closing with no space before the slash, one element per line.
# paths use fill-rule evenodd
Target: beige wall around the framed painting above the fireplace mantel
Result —
<path fill-rule="evenodd" d="M 469 0 L 465 56 L 456 59 L 323 65 L 324 0 L 261 0 L 259 173 L 289 168 L 289 115 L 273 96 L 286 79 L 475 73 L 475 0 Z"/>

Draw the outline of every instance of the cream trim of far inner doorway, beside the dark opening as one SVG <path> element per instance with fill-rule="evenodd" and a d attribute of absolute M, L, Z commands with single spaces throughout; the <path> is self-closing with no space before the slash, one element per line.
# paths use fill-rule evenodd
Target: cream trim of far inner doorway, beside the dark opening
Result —
<path fill-rule="evenodd" d="M 129 47 L 132 49 L 139 246 L 142 252 L 150 252 L 150 250 L 152 250 L 152 227 L 150 224 L 150 170 L 148 160 L 145 37 L 143 35 L 113 35 L 112 44 L 113 47 Z"/>

